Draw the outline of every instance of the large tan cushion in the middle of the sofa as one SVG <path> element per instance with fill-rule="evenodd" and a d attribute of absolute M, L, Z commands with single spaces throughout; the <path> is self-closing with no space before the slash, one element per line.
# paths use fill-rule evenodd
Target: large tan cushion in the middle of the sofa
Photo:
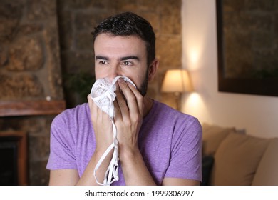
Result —
<path fill-rule="evenodd" d="M 251 185 L 269 139 L 244 134 L 229 134 L 215 153 L 211 185 Z"/>

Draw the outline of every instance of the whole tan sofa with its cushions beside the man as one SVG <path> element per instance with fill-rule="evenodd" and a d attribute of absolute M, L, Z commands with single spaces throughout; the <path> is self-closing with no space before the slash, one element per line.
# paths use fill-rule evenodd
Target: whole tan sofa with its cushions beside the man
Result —
<path fill-rule="evenodd" d="M 278 186 L 278 138 L 202 124 L 202 185 Z"/>

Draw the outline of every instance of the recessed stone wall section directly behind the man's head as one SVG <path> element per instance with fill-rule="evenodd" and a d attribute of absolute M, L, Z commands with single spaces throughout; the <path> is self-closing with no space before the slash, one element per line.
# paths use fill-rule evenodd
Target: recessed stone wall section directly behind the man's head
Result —
<path fill-rule="evenodd" d="M 117 1 L 63 1 L 58 0 L 58 23 L 61 41 L 61 64 L 64 74 L 94 74 L 93 44 L 91 32 L 106 17 L 123 11 L 133 11 L 145 17 L 153 25 L 157 37 L 157 57 L 160 59 L 158 76 L 150 83 L 148 95 L 175 106 L 173 96 L 160 94 L 160 86 L 167 69 L 181 67 L 181 1 L 176 0 L 117 0 Z M 89 78 L 88 78 L 89 79 Z M 93 79 L 93 78 L 92 78 Z M 71 82 L 66 76 L 64 83 Z M 72 81 L 73 84 L 75 81 Z M 84 88 L 90 91 L 93 81 Z M 74 86 L 65 86 L 68 107 L 86 101 L 74 91 Z M 86 94 L 85 94 L 86 96 Z M 68 99 L 71 99 L 68 101 Z"/>

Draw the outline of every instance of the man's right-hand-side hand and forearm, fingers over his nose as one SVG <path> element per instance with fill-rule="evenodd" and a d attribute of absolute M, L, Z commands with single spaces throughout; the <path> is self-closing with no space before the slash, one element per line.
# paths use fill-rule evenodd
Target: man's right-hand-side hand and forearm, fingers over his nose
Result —
<path fill-rule="evenodd" d="M 119 141 L 120 164 L 127 185 L 155 185 L 138 148 L 138 134 L 143 122 L 143 96 L 135 87 L 118 79 L 115 125 Z"/>

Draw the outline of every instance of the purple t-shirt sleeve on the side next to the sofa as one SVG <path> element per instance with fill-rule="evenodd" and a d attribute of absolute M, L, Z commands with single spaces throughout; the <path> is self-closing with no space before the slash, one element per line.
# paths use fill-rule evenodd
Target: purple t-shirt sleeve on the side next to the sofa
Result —
<path fill-rule="evenodd" d="M 165 177 L 202 181 L 202 126 L 193 118 L 173 135 Z"/>

